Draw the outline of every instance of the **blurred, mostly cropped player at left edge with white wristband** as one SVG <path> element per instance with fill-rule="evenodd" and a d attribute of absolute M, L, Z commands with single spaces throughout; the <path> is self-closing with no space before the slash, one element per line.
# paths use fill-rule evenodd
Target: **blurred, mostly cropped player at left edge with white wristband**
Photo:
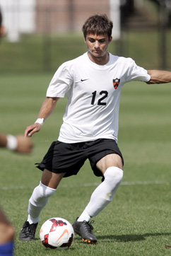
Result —
<path fill-rule="evenodd" d="M 2 16 L 0 10 L 0 37 L 4 34 Z M 0 147 L 16 151 L 18 153 L 30 153 L 33 143 L 30 138 L 23 135 L 13 136 L 11 134 L 0 134 Z M 13 255 L 13 240 L 15 231 L 11 223 L 6 219 L 4 212 L 0 209 L 0 255 Z"/>

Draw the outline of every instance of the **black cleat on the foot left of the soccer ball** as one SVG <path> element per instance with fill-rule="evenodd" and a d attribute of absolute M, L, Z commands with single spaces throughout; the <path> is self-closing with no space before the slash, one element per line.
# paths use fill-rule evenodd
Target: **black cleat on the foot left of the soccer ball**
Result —
<path fill-rule="evenodd" d="M 25 221 L 23 228 L 21 228 L 19 240 L 21 241 L 31 241 L 35 240 L 35 231 L 38 223 L 30 224 L 28 221 Z"/>

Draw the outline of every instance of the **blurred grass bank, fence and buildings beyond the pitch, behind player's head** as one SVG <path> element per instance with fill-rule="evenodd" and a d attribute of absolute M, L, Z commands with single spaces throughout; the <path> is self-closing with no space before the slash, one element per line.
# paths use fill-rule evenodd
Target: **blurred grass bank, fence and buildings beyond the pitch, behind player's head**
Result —
<path fill-rule="evenodd" d="M 114 23 L 112 54 L 146 69 L 171 69 L 170 0 L 0 0 L 0 8 L 0 72 L 56 71 L 86 52 L 81 28 L 95 13 Z"/>

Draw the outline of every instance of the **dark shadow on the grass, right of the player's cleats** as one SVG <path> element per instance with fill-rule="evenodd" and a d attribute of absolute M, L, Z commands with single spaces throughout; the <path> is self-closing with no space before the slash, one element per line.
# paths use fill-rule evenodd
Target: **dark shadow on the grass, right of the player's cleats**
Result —
<path fill-rule="evenodd" d="M 146 238 L 155 236 L 158 237 L 160 235 L 171 235 L 171 233 L 146 233 L 142 235 L 133 235 L 133 234 L 128 234 L 128 235 L 99 235 L 97 236 L 98 240 L 104 240 L 107 242 L 109 240 L 109 243 L 111 243 L 111 240 L 115 242 L 136 242 L 136 241 L 142 241 L 146 240 Z"/>

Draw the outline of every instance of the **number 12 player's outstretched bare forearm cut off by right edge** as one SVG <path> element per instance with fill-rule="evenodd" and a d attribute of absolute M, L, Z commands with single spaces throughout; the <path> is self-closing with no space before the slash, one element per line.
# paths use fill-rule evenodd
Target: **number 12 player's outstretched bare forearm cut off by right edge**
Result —
<path fill-rule="evenodd" d="M 146 83 L 170 83 L 171 72 L 162 70 L 148 70 L 151 79 Z"/>

